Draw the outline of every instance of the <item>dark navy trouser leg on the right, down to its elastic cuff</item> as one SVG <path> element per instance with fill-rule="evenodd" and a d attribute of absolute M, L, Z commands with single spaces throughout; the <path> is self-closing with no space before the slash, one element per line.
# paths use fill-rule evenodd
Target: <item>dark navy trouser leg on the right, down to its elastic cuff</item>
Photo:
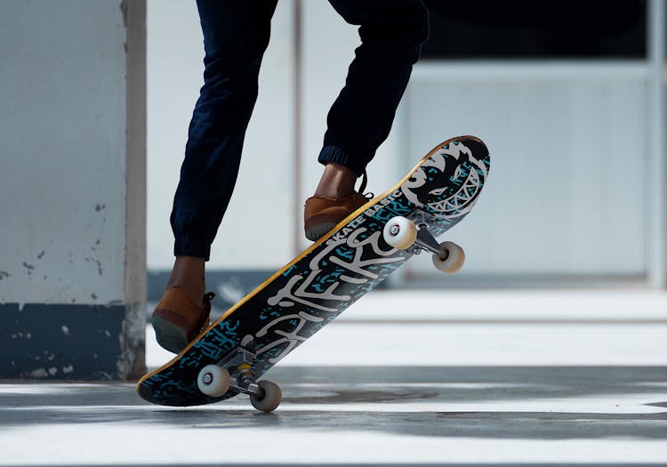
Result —
<path fill-rule="evenodd" d="M 359 25 L 345 86 L 327 116 L 318 160 L 360 176 L 390 133 L 398 103 L 429 33 L 421 0 L 330 0 L 350 24 Z"/>

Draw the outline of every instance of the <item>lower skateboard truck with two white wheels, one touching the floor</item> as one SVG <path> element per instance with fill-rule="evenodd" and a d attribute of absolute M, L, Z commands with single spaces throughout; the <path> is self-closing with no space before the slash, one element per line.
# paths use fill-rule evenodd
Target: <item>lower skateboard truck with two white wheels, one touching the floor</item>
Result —
<path fill-rule="evenodd" d="M 197 386 L 207 396 L 221 398 L 227 391 L 243 392 L 250 396 L 253 407 L 262 412 L 276 409 L 282 399 L 280 387 L 275 382 L 255 381 L 253 361 L 254 342 L 246 336 L 236 350 L 213 365 L 201 369 Z"/>

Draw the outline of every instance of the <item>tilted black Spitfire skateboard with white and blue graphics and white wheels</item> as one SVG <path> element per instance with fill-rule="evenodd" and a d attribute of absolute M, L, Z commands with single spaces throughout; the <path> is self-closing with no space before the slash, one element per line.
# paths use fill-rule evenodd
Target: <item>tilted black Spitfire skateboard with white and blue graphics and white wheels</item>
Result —
<path fill-rule="evenodd" d="M 436 238 L 478 200 L 490 158 L 474 136 L 438 144 L 405 178 L 351 213 L 278 270 L 176 357 L 137 383 L 141 398 L 164 406 L 210 404 L 245 393 L 253 407 L 280 403 L 259 380 L 292 350 L 422 251 L 453 272 L 465 254 Z"/>

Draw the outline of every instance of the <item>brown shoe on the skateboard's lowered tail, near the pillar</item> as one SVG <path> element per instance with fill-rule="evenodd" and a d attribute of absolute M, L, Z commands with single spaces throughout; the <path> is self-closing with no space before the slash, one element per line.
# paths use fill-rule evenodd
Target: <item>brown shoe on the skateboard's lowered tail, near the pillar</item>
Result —
<path fill-rule="evenodd" d="M 190 302 L 181 288 L 167 287 L 150 319 L 157 343 L 173 353 L 185 349 L 188 343 L 208 326 L 214 296 L 215 294 L 210 292 L 205 294 L 202 306 L 197 307 Z"/>

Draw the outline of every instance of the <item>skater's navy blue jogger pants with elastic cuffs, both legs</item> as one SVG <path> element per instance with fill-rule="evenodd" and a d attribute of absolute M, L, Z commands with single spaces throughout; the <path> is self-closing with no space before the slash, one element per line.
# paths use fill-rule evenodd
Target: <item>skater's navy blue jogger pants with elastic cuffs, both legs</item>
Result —
<path fill-rule="evenodd" d="M 330 3 L 344 20 L 359 26 L 361 45 L 327 116 L 318 161 L 344 165 L 360 175 L 390 133 L 428 36 L 428 12 L 421 0 Z M 204 86 L 189 125 L 173 201 L 176 256 L 209 259 L 237 181 L 276 4 L 277 0 L 197 0 L 204 33 Z"/>

